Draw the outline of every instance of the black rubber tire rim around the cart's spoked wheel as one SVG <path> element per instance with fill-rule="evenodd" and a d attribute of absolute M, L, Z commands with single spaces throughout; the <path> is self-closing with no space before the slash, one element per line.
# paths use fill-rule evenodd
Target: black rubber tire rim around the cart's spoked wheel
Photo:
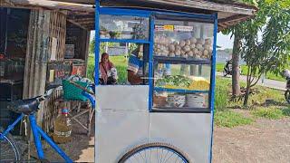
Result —
<path fill-rule="evenodd" d="M 118 163 L 125 163 L 125 161 L 128 158 L 130 158 L 131 156 L 133 156 L 135 153 L 137 153 L 143 149 L 152 148 L 152 147 L 162 147 L 165 149 L 173 150 L 174 152 L 178 153 L 181 157 L 183 157 L 188 163 L 190 163 L 189 158 L 187 157 L 187 154 L 183 153 L 182 151 L 180 151 L 180 149 L 172 146 L 171 144 L 162 143 L 162 142 L 146 143 L 146 144 L 140 145 L 134 149 L 131 149 L 124 156 L 121 157 L 121 159 L 118 161 Z"/>

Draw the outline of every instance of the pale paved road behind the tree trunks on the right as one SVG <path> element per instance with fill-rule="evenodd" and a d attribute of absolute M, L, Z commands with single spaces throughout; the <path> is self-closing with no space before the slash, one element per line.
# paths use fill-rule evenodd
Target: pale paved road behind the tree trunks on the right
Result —
<path fill-rule="evenodd" d="M 217 72 L 216 75 L 223 76 L 223 73 L 222 72 Z M 231 75 L 227 75 L 226 78 L 231 78 Z M 243 82 L 246 82 L 247 81 L 247 76 L 241 75 L 240 76 L 240 80 L 243 81 Z M 281 90 L 281 91 L 285 91 L 285 87 L 286 87 L 286 81 L 285 82 L 280 82 L 280 81 L 274 81 L 274 80 L 268 80 L 268 79 L 265 79 L 264 84 L 262 83 L 261 80 L 259 82 L 257 82 L 257 84 L 266 86 L 268 88 Z"/>

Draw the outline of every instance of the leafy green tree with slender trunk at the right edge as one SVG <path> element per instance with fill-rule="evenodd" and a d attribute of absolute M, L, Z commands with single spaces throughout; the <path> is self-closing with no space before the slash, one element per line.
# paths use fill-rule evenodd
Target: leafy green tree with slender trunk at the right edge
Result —
<path fill-rule="evenodd" d="M 241 25 L 241 56 L 247 62 L 247 89 L 249 92 L 266 72 L 281 72 L 290 59 L 290 10 L 279 1 L 259 1 L 256 17 Z M 262 39 L 258 38 L 262 32 Z"/>

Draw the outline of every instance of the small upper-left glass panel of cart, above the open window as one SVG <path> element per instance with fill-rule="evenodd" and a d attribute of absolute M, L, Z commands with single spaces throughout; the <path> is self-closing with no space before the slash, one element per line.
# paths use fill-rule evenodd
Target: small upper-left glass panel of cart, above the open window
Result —
<path fill-rule="evenodd" d="M 149 39 L 149 18 L 128 15 L 100 15 L 102 39 Z"/>

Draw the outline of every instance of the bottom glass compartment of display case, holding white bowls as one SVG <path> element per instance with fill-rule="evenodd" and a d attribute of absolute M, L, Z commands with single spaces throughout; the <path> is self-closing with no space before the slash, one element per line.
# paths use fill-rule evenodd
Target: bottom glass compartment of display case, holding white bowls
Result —
<path fill-rule="evenodd" d="M 153 108 L 208 109 L 208 93 L 154 91 Z"/>

